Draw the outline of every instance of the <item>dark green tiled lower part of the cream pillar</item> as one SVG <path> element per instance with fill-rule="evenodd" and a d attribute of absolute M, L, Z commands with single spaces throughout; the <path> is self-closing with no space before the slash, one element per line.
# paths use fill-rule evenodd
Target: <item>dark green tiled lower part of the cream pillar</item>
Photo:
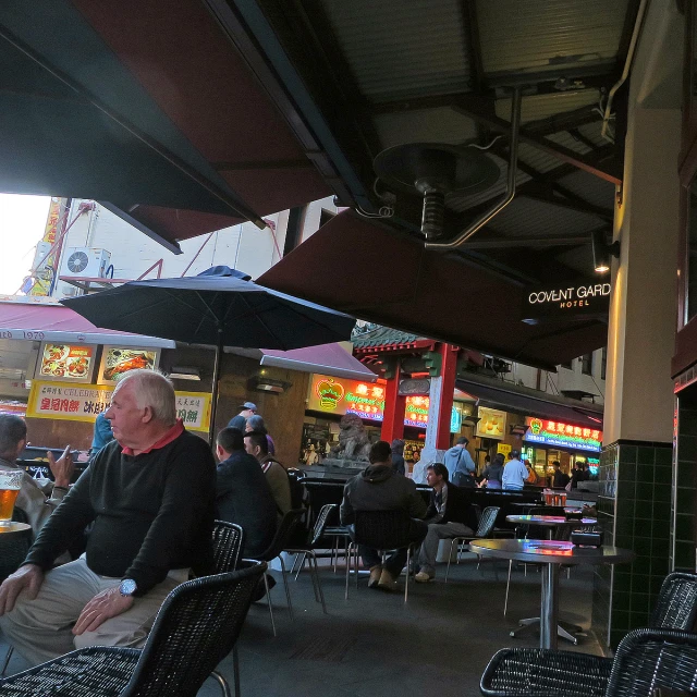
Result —
<path fill-rule="evenodd" d="M 592 625 L 610 648 L 648 624 L 669 572 L 672 453 L 671 443 L 617 441 L 600 456 L 598 523 L 604 541 L 636 553 L 632 564 L 595 572 Z"/>

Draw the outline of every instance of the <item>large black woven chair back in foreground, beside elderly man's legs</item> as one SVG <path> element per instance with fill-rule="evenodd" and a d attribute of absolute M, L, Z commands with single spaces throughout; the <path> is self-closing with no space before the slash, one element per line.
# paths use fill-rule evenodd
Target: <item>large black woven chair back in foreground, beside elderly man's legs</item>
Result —
<path fill-rule="evenodd" d="M 121 697 L 195 697 L 232 650 L 265 563 L 178 586 L 155 620 Z"/>

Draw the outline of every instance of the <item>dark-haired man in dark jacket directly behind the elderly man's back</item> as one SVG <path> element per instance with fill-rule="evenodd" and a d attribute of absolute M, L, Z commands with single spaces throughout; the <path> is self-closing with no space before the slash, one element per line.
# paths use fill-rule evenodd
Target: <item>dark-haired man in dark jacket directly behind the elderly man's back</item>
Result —
<path fill-rule="evenodd" d="M 223 428 L 216 442 L 218 478 L 216 502 L 218 517 L 236 523 L 244 530 L 243 555 L 256 559 L 271 545 L 276 535 L 276 501 L 256 457 L 244 449 L 244 435 L 236 428 Z"/>

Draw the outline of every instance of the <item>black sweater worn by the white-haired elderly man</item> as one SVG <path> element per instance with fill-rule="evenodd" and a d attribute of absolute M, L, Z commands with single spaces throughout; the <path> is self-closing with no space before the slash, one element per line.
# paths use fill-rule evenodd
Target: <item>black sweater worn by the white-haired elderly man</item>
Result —
<path fill-rule="evenodd" d="M 212 564 L 216 463 L 208 444 L 184 431 L 163 448 L 132 456 L 102 448 L 41 528 L 26 564 L 44 570 L 90 522 L 87 566 L 133 578 L 136 596 L 170 570 Z"/>

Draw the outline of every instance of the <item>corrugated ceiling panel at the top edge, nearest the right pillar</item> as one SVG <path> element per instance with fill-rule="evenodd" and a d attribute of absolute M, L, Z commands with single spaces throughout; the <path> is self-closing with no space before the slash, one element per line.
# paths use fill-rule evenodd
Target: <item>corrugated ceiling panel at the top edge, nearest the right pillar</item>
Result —
<path fill-rule="evenodd" d="M 478 0 L 486 73 L 565 69 L 611 62 L 627 0 Z"/>

